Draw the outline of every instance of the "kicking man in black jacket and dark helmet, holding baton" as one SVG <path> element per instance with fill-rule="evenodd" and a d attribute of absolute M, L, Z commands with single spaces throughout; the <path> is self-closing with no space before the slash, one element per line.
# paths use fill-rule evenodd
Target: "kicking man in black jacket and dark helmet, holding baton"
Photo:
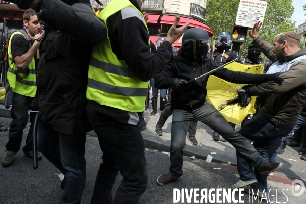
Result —
<path fill-rule="evenodd" d="M 156 87 L 159 89 L 173 87 L 171 92 L 173 113 L 171 129 L 171 152 L 170 172 L 160 175 L 157 179 L 159 185 L 172 182 L 183 174 L 183 149 L 189 121 L 198 119 L 220 133 L 230 142 L 237 151 L 261 173 L 276 171 L 281 163 L 264 162 L 263 158 L 251 143 L 232 129 L 226 119 L 206 100 L 206 84 L 209 75 L 188 84 L 187 81 L 195 79 L 219 66 L 219 64 L 208 59 L 210 51 L 210 39 L 203 29 L 193 28 L 186 31 L 182 39 L 182 48 L 179 55 L 162 69 L 156 77 Z M 244 72 L 233 72 L 220 68 L 213 73 L 216 77 L 232 83 L 262 83 L 268 80 L 279 80 L 277 74 L 249 74 Z M 243 101 L 241 106 L 247 103 Z"/>

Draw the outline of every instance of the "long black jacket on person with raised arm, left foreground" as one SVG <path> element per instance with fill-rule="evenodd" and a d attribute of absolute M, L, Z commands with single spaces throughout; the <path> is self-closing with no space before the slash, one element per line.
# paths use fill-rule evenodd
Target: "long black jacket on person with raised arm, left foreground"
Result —
<path fill-rule="evenodd" d="M 85 4 L 48 0 L 40 10 L 38 18 L 48 25 L 37 68 L 39 118 L 60 133 L 86 133 L 92 130 L 86 112 L 88 65 L 105 24 Z"/>

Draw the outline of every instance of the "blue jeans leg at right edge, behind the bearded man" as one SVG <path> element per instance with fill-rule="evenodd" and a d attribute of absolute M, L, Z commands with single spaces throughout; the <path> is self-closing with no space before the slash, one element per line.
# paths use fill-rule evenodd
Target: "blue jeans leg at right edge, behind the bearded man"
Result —
<path fill-rule="evenodd" d="M 297 124 L 293 127 L 292 131 L 282 137 L 282 138 L 278 138 L 277 141 L 275 143 L 273 143 L 270 148 L 269 148 L 269 162 L 275 162 L 276 161 L 276 156 L 278 154 L 279 151 L 279 147 L 282 145 L 283 141 L 287 139 L 287 137 L 289 137 L 291 135 L 291 133 L 293 133 L 294 131 L 296 131 L 297 129 L 299 129 L 300 127 L 305 127 L 306 126 L 306 115 L 301 113 Z"/>

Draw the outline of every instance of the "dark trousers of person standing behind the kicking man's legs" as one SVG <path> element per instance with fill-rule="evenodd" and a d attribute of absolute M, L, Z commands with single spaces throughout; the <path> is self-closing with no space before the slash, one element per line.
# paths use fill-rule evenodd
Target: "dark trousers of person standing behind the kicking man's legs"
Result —
<path fill-rule="evenodd" d="M 156 127 L 162 128 L 165 125 L 167 119 L 172 115 L 172 111 L 170 111 L 170 108 L 171 108 L 171 96 L 169 96 L 167 107 L 161 113 L 161 116 L 157 121 Z M 198 122 L 198 120 L 196 120 L 196 119 L 192 119 L 190 121 L 189 126 L 188 126 L 189 136 L 195 136 L 197 122 Z"/>

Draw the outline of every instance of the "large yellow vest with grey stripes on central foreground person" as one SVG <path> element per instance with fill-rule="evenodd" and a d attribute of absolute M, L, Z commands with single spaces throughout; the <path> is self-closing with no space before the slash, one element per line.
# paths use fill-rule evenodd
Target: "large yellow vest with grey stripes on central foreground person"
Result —
<path fill-rule="evenodd" d="M 137 17 L 147 28 L 141 11 L 129 0 L 112 0 L 101 11 L 99 18 L 107 22 L 109 16 L 119 11 L 123 20 Z M 124 60 L 117 59 L 106 31 L 105 38 L 93 47 L 88 70 L 87 99 L 124 111 L 142 112 L 148 84 L 139 80 Z"/>

